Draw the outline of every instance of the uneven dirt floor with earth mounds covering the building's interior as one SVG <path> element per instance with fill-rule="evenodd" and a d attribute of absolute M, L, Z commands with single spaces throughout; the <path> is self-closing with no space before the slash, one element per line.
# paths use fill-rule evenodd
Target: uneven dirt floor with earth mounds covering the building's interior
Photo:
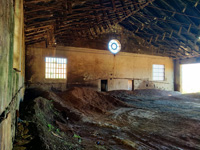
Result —
<path fill-rule="evenodd" d="M 29 89 L 14 149 L 200 150 L 200 94 Z"/>

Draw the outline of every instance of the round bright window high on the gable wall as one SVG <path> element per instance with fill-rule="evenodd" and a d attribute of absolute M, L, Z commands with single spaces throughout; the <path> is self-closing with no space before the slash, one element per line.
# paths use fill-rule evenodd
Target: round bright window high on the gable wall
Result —
<path fill-rule="evenodd" d="M 111 53 L 117 54 L 121 50 L 121 44 L 116 39 L 110 40 L 108 43 L 108 49 Z"/>

